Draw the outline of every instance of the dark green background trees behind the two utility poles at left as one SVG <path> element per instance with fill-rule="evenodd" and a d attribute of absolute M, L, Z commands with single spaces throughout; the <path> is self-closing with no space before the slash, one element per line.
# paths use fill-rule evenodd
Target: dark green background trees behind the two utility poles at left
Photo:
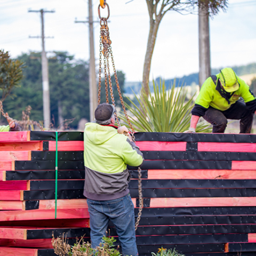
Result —
<path fill-rule="evenodd" d="M 15 87 L 5 99 L 4 110 L 11 117 L 19 120 L 22 110 L 31 106 L 30 119 L 41 121 L 43 120 L 41 53 L 23 53 L 17 59 L 25 65 L 23 78 L 20 86 Z M 117 75 L 123 91 L 125 75 L 122 71 L 117 71 Z M 111 81 L 113 81 L 114 97 L 118 104 L 119 97 L 113 76 Z M 86 61 L 76 60 L 68 52 L 54 52 L 49 59 L 49 85 L 51 122 L 54 127 L 61 126 L 65 120 L 75 118 L 69 127 L 76 129 L 82 118 L 90 119 L 89 65 Z M 102 81 L 101 102 L 106 101 L 104 87 L 104 81 Z"/>

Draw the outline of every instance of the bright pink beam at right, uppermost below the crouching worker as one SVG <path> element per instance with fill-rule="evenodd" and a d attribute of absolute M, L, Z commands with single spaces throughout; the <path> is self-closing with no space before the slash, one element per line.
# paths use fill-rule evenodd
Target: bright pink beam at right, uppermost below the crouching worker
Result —
<path fill-rule="evenodd" d="M 198 151 L 256 152 L 256 143 L 198 142 Z"/>

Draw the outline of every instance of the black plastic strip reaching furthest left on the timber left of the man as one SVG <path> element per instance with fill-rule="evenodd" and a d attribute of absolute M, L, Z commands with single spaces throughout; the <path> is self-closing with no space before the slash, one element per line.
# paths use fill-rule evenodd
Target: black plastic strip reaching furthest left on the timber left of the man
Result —
<path fill-rule="evenodd" d="M 58 171 L 58 180 L 84 179 L 84 170 Z M 6 171 L 6 180 L 55 180 L 55 171 Z"/>

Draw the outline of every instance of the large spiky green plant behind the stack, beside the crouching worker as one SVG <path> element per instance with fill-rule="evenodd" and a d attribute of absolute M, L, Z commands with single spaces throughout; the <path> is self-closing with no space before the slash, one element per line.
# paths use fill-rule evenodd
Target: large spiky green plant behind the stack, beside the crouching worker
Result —
<path fill-rule="evenodd" d="M 141 90 L 139 98 L 135 93 L 135 99 L 139 106 L 129 99 L 131 106 L 125 104 L 131 123 L 137 132 L 184 132 L 190 126 L 190 111 L 194 106 L 194 97 L 187 100 L 185 87 L 175 87 L 175 81 L 169 90 L 165 83 L 159 85 L 153 81 L 154 92 L 149 91 L 149 96 Z M 120 115 L 126 123 L 124 115 Z M 211 132 L 209 123 L 199 122 L 196 132 Z"/>

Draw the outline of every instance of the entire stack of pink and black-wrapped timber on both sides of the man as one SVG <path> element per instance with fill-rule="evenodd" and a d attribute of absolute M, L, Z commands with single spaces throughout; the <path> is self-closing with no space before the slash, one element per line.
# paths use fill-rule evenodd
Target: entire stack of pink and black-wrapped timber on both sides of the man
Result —
<path fill-rule="evenodd" d="M 146 159 L 139 255 L 163 247 L 186 256 L 256 256 L 256 134 L 136 133 L 135 139 Z M 0 141 L 0 255 L 55 255 L 52 234 L 90 241 L 83 133 L 58 132 L 57 212 L 56 133 L 2 132 Z M 137 215 L 138 172 L 129 168 Z M 109 234 L 116 236 L 111 222 Z"/>

